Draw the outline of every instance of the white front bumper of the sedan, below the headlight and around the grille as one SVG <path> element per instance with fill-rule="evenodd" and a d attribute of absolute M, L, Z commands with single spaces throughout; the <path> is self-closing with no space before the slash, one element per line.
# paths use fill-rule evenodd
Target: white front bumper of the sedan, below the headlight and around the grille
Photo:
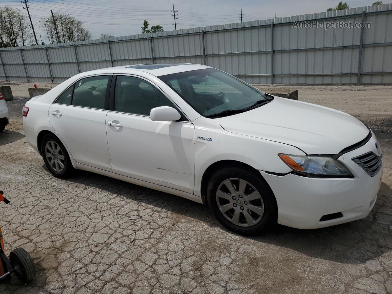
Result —
<path fill-rule="evenodd" d="M 354 178 L 276 176 L 260 171 L 274 192 L 278 223 L 298 229 L 317 229 L 365 218 L 376 203 L 382 167 L 371 177 L 352 158 L 369 151 L 380 155 L 376 142 L 373 135 L 362 147 L 338 158 L 350 169 Z M 320 221 L 322 216 L 338 212 L 343 216 Z"/>

